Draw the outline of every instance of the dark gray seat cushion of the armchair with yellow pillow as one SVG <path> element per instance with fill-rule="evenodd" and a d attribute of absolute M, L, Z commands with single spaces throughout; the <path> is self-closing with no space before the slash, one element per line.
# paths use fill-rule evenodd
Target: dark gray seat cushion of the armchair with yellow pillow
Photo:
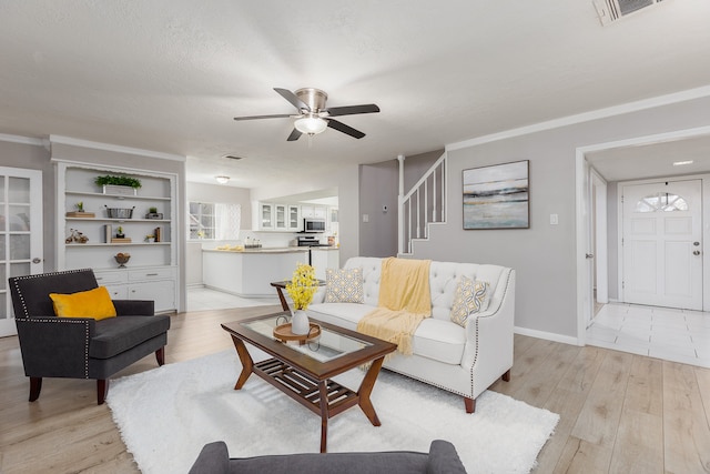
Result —
<path fill-rule="evenodd" d="M 119 316 L 97 321 L 89 343 L 89 356 L 109 359 L 170 329 L 170 316 Z"/>

